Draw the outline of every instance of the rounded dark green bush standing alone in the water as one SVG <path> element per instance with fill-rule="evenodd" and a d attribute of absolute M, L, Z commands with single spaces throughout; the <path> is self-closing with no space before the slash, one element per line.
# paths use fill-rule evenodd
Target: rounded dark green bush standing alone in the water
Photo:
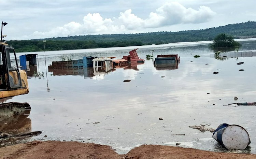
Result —
<path fill-rule="evenodd" d="M 219 48 L 219 47 L 240 47 L 241 44 L 237 41 L 234 41 L 234 37 L 225 33 L 218 34 L 210 48 Z"/>

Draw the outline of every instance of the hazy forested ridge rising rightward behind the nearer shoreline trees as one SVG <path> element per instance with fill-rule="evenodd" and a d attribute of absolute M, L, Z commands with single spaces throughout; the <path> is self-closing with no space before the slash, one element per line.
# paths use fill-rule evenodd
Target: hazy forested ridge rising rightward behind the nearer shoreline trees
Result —
<path fill-rule="evenodd" d="M 116 42 L 116 41 L 140 41 L 142 43 L 174 43 L 191 41 L 213 40 L 219 33 L 228 33 L 236 39 L 255 38 L 256 22 L 229 24 L 217 28 L 189 30 L 179 32 L 152 32 L 139 34 L 104 34 L 104 35 L 79 35 L 69 37 L 49 38 L 46 40 L 65 40 L 65 41 L 95 41 L 95 42 Z M 43 39 L 37 39 L 43 40 Z"/>

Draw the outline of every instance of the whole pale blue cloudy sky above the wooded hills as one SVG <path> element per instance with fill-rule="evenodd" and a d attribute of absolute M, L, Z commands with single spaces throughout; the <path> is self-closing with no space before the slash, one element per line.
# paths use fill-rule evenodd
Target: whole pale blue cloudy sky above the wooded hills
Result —
<path fill-rule="evenodd" d="M 0 0 L 5 40 L 207 29 L 256 21 L 255 0 Z"/>

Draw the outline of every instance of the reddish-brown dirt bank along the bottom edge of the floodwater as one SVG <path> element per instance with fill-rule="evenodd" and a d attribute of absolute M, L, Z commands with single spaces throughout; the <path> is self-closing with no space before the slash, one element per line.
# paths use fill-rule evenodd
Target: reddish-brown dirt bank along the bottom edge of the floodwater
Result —
<path fill-rule="evenodd" d="M 118 155 L 110 146 L 93 143 L 33 141 L 0 148 L 1 159 L 255 159 L 256 155 L 214 153 L 191 148 L 142 145 L 126 155 Z"/>

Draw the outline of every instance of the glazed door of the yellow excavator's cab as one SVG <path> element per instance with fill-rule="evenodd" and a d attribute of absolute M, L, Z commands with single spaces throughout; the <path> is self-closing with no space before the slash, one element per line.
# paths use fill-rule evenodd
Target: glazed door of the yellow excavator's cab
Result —
<path fill-rule="evenodd" d="M 22 87 L 19 69 L 18 69 L 18 63 L 16 54 L 14 52 L 14 49 L 12 47 L 5 47 L 5 53 L 6 53 L 6 64 L 8 69 L 8 85 L 11 89 L 20 88 Z M 14 54 L 15 56 L 15 62 L 16 62 L 16 68 L 12 67 L 11 64 L 11 54 Z"/>

